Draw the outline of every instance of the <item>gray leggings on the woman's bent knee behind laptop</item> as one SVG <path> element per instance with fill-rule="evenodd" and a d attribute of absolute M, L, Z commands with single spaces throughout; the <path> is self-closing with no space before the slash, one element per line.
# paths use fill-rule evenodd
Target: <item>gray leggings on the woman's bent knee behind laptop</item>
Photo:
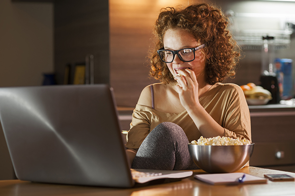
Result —
<path fill-rule="evenodd" d="M 132 163 L 134 169 L 196 170 L 190 157 L 184 131 L 175 123 L 160 123 L 139 147 Z"/>

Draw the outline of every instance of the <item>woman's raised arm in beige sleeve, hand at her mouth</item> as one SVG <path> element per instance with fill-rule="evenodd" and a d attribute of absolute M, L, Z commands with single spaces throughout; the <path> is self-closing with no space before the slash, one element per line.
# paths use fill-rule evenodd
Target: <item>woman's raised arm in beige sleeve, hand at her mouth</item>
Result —
<path fill-rule="evenodd" d="M 250 114 L 242 90 L 236 85 L 219 89 L 216 104 L 210 106 L 211 109 L 215 107 L 214 113 L 210 109 L 207 112 L 199 102 L 199 84 L 195 74 L 191 70 L 185 71 L 185 76 L 176 77 L 178 84 L 184 87 L 177 86 L 177 93 L 201 134 L 204 137 L 219 135 L 251 140 Z"/>

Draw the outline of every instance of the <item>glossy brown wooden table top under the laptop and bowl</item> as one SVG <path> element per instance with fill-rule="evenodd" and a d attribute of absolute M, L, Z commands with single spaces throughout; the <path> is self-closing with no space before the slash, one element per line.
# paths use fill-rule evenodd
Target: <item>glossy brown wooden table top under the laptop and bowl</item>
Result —
<path fill-rule="evenodd" d="M 263 177 L 268 173 L 295 173 L 256 167 L 243 168 L 237 172 Z M 194 174 L 205 173 L 194 170 Z M 70 186 L 32 183 L 21 180 L 0 181 L 0 196 L 284 196 L 295 195 L 295 182 L 272 182 L 267 184 L 244 184 L 214 186 L 203 183 L 193 176 L 178 182 L 141 188 L 118 189 L 88 186 Z"/>

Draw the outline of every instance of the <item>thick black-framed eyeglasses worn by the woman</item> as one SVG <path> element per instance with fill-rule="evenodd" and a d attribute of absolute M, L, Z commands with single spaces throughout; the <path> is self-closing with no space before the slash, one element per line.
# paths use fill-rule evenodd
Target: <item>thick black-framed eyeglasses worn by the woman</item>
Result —
<path fill-rule="evenodd" d="M 179 59 L 183 62 L 191 62 L 195 60 L 195 51 L 198 49 L 205 48 L 205 44 L 198 46 L 197 48 L 188 48 L 188 49 L 178 49 L 178 50 L 170 50 L 170 49 L 159 49 L 157 52 L 161 58 L 161 60 L 165 63 L 172 63 L 175 55 L 179 57 Z"/>

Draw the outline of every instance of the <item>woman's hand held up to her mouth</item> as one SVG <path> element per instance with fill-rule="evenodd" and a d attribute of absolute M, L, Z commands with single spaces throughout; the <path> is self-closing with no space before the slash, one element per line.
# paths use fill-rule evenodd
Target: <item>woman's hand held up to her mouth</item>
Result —
<path fill-rule="evenodd" d="M 182 106 L 188 110 L 199 104 L 199 84 L 195 73 L 190 69 L 178 70 L 175 80 L 176 91 Z"/>

